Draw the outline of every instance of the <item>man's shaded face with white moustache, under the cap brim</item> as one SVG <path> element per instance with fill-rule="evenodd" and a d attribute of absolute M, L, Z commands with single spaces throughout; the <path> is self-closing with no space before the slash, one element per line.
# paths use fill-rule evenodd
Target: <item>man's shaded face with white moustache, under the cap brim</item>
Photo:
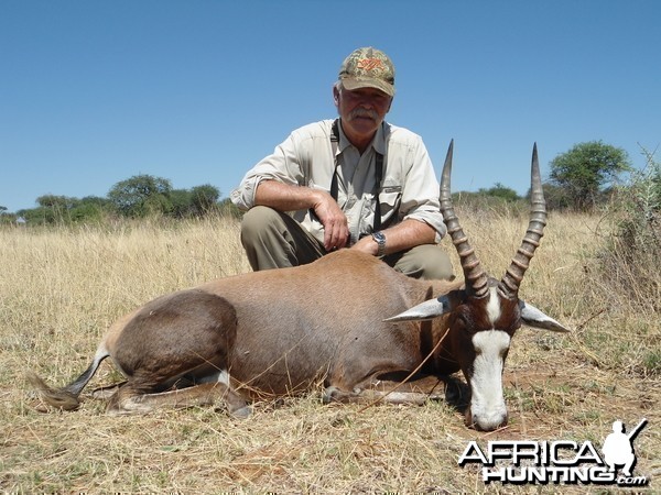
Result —
<path fill-rule="evenodd" d="M 349 140 L 371 140 L 392 103 L 392 97 L 376 88 L 350 91 L 335 87 L 333 94 L 343 130 Z"/>

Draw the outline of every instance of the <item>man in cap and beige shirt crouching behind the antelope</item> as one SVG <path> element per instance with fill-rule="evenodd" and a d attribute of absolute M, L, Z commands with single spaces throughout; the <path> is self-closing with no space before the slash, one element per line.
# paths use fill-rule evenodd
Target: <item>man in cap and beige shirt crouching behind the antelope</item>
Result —
<path fill-rule="evenodd" d="M 292 132 L 231 193 L 248 210 L 241 242 L 254 271 L 296 266 L 349 248 L 414 277 L 453 278 L 437 245 L 446 233 L 422 139 L 384 122 L 394 67 L 376 48 L 343 63 L 339 119 Z"/>

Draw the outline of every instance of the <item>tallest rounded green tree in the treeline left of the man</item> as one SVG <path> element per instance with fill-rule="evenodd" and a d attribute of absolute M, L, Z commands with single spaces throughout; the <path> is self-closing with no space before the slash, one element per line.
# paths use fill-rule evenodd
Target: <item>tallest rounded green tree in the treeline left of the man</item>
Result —
<path fill-rule="evenodd" d="M 172 210 L 170 180 L 152 175 L 134 175 L 117 183 L 108 193 L 108 200 L 124 217 L 143 218 L 167 215 Z"/>

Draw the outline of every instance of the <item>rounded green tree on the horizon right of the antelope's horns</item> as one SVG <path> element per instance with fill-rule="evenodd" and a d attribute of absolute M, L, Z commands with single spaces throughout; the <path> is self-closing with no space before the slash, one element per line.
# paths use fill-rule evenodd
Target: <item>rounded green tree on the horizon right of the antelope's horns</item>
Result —
<path fill-rule="evenodd" d="M 564 188 L 571 205 L 578 210 L 592 208 L 606 186 L 631 169 L 625 150 L 602 141 L 578 143 L 553 158 L 550 166 L 550 182 Z"/>

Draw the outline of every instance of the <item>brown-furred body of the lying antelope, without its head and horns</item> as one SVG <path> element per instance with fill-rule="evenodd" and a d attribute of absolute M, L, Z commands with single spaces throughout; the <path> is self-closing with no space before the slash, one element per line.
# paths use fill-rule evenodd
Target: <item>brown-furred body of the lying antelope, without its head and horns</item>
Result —
<path fill-rule="evenodd" d="M 384 317 L 458 287 L 415 280 L 373 256 L 343 250 L 310 265 L 221 278 L 160 297 L 118 320 L 99 345 L 97 355 L 110 355 L 128 378 L 110 398 L 109 411 L 223 398 L 230 411 L 243 415 L 243 397 L 299 393 L 321 382 L 346 402 L 376 387 L 380 377 L 405 377 L 446 328 L 446 318 L 392 323 Z M 452 352 L 437 349 L 419 376 L 458 369 Z M 220 370 L 231 376 L 231 387 L 203 383 Z M 93 373 L 62 391 L 43 382 L 37 389 L 46 403 L 75 408 L 63 407 L 61 395 L 75 400 L 71 391 Z M 433 383 L 405 391 L 431 393 L 438 380 Z"/>

